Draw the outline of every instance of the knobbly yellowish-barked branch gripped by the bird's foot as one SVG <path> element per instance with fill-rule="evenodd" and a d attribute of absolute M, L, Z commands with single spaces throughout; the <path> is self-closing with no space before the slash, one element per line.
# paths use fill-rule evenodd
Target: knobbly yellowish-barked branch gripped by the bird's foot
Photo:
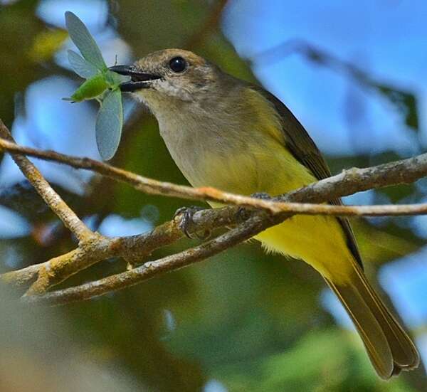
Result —
<path fill-rule="evenodd" d="M 187 228 L 189 234 L 196 234 L 214 230 L 236 223 L 238 208 L 218 208 L 203 210 L 194 213 L 192 224 Z M 131 235 L 128 237 L 105 238 L 97 240 L 79 248 L 48 260 L 41 264 L 30 265 L 21 270 L 6 272 L 0 275 L 0 281 L 16 287 L 28 286 L 37 280 L 27 294 L 43 293 L 53 285 L 102 260 L 112 257 L 122 257 L 133 264 L 138 264 L 144 257 L 154 250 L 174 243 L 184 237 L 181 230 L 182 216 L 157 226 L 149 233 Z"/>

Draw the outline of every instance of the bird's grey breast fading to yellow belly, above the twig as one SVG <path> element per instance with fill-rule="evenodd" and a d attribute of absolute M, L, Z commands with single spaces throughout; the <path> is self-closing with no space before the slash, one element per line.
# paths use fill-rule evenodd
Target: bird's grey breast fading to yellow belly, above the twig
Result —
<path fill-rule="evenodd" d="M 232 124 L 232 123 L 231 123 Z M 280 194 L 313 177 L 284 144 L 263 129 L 179 115 L 159 119 L 164 142 L 192 186 L 214 186 L 236 194 Z"/>

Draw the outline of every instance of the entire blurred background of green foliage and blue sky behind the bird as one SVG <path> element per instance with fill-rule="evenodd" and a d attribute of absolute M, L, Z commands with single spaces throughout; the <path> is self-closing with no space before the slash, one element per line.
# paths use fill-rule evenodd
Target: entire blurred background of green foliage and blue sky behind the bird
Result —
<path fill-rule="evenodd" d="M 295 9 L 296 1 L 285 3 L 289 10 Z M 339 25 L 340 18 L 351 9 L 350 3 L 331 3 L 340 4 L 330 5 L 334 11 L 331 18 Z M 371 18 L 384 18 L 386 23 L 386 18 L 401 13 L 399 1 L 379 3 L 386 4 L 386 11 L 368 7 Z M 413 19 L 406 20 L 406 25 L 390 19 L 394 24 L 382 31 L 389 37 L 385 41 L 393 41 L 396 53 L 400 53 L 398 64 L 412 61 L 410 55 L 402 60 L 406 51 L 401 48 L 423 50 L 416 21 L 427 8 L 418 3 L 411 5 Z M 257 75 L 291 110 L 295 105 L 296 114 L 327 153 L 333 172 L 423 150 L 425 129 L 420 112 L 424 95 L 411 78 L 415 78 L 415 68 L 426 65 L 425 56 L 416 57 L 418 67 L 412 63 L 397 70 L 370 67 L 369 55 L 378 50 L 374 41 L 367 39 L 364 55 L 343 57 L 342 46 L 334 48 L 329 41 L 322 42 L 316 26 L 302 36 L 297 28 L 292 31 L 292 21 L 298 16 L 287 13 L 283 6 L 278 6 L 275 15 L 266 11 L 268 6 L 278 5 L 275 1 L 267 1 L 265 9 L 258 3 L 259 14 L 255 13 L 257 2 L 237 0 L 229 4 L 184 0 L 21 0 L 0 4 L 0 118 L 22 144 L 99 157 L 94 136 L 95 104 L 70 105 L 60 100 L 81 82 L 65 61 L 65 49 L 71 44 L 62 29 L 63 12 L 70 10 L 89 26 L 108 65 L 115 62 L 116 54 L 118 63 L 129 63 L 154 50 L 182 47 L 239 78 L 256 81 Z M 307 1 L 305 8 L 301 5 L 300 14 L 315 18 L 318 10 L 312 4 Z M 322 31 L 333 36 L 339 28 L 325 14 L 319 14 Z M 273 26 L 279 22 L 291 27 L 275 30 Z M 354 36 L 364 36 L 362 22 Z M 371 36 L 376 35 L 381 36 L 381 31 L 373 28 Z M 265 38 L 264 47 L 260 36 Z M 386 48 L 384 45 L 384 51 L 375 52 L 375 60 L 381 55 L 388 59 Z M 287 73 L 289 79 L 283 76 Z M 315 78 L 317 90 L 307 87 L 305 77 Z M 334 98 L 330 90 L 336 90 L 330 78 L 339 79 L 345 86 Z M 295 90 L 298 88 L 300 91 Z M 292 89 L 297 97 L 294 101 Z M 304 92 L 310 92 L 307 100 Z M 307 115 L 310 112 L 314 114 Z M 337 125 L 337 117 L 344 125 Z M 127 102 L 127 120 L 112 164 L 186 184 L 169 157 L 154 118 Z M 347 132 L 344 137 L 343 132 Z M 334 144 L 335 137 L 350 142 L 340 146 Z M 35 161 L 79 216 L 108 235 L 146 231 L 171 218 L 176 208 L 189 205 L 174 198 L 145 196 L 87 172 Z M 371 191 L 351 202 L 421 201 L 425 190 L 426 184 L 420 181 Z M 378 273 L 381 286 L 415 334 L 421 353 L 426 353 L 427 269 L 423 255 L 427 231 L 423 218 L 359 220 L 354 221 L 354 227 L 367 273 L 372 279 Z M 23 181 L 10 158 L 3 157 L 0 272 L 41 263 L 73 248 L 73 242 Z M 182 241 L 157 251 L 152 258 L 195 242 Z M 67 285 L 125 267 L 123 260 L 101 263 Z M 9 295 L 4 292 L 2 297 Z M 5 300 L 0 304 L 0 314 L 1 391 L 427 388 L 423 366 L 389 383 L 376 378 L 361 341 L 320 276 L 304 263 L 265 255 L 255 242 L 114 295 L 49 310 L 16 308 Z"/>

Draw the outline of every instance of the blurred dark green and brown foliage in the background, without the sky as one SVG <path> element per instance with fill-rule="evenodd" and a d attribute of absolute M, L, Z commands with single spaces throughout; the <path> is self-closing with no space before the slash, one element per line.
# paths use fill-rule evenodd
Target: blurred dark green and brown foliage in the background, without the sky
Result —
<path fill-rule="evenodd" d="M 112 1 L 109 23 L 117 25 L 117 31 L 135 57 L 167 47 L 188 48 L 187 44 L 209 18 L 213 3 Z M 36 16 L 37 4 L 35 0 L 21 0 L 1 6 L 0 118 L 7 125 L 14 118 L 16 96 L 25 92 L 28 85 L 45 75 L 68 74 L 52 60 L 63 42 L 63 31 L 46 26 Z M 191 49 L 233 75 L 255 80 L 249 64 L 238 58 L 219 31 L 207 34 L 202 43 Z M 321 57 L 322 53 L 316 54 L 311 56 L 312 60 L 330 66 Z M 366 83 L 362 79 L 359 82 Z M 398 102 L 407 125 L 416 129 L 416 98 L 389 85 L 373 83 L 369 79 L 367 84 Z M 392 159 L 396 156 L 341 157 L 330 159 L 330 164 L 332 171 L 337 172 L 344 167 L 368 166 Z M 142 108 L 128 122 L 112 163 L 144 176 L 186 184 L 159 136 L 157 122 Z M 97 214 L 98 222 L 110 213 L 127 218 L 139 216 L 142 208 L 152 205 L 159 211 L 152 223 L 158 224 L 171 218 L 177 208 L 191 204 L 140 194 L 108 179 L 96 178 L 80 196 L 57 188 L 80 216 Z M 415 186 L 394 187 L 376 194 L 393 202 L 413 195 L 415 199 L 421 198 Z M 58 228 L 51 213 L 25 185 L 1 189 L 0 202 L 23 213 L 34 225 L 31 237 L 0 241 L 0 260 L 4 261 L 0 263 L 0 272 L 41 263 L 75 245 L 74 239 Z M 354 223 L 367 265 L 387 263 L 423 245 L 423 240 L 398 226 L 395 219 Z M 46 242 L 49 231 L 55 235 Z M 194 243 L 183 240 L 157 250 L 151 258 Z M 124 269 L 122 260 L 106 261 L 72 277 L 66 285 Z M 367 270 L 374 275 L 375 268 Z M 22 339 L 21 345 L 19 338 L 31 335 L 26 324 L 32 324 L 33 313 L 19 309 L 23 319 L 7 330 L 8 334 L 14 332 L 15 339 L 11 339 L 9 347 L 14 351 L 2 349 L 0 354 L 0 385 L 4 374 L 11 374 L 11 369 L 27 369 L 28 363 L 37 364 L 38 351 L 43 351 L 45 341 L 46 346 L 58 348 L 66 340 L 65 346 L 81 351 L 88 362 L 101 366 L 104 373 L 111 375 L 120 369 L 140 386 L 134 391 L 202 391 L 213 379 L 233 392 L 422 391 L 420 385 L 425 378 L 421 369 L 389 383 L 376 378 L 357 336 L 335 327 L 330 314 L 322 309 L 319 294 L 324 287 L 321 277 L 304 263 L 265 255 L 257 243 L 250 242 L 209 262 L 123 292 L 63 307 L 53 316 L 46 316 L 48 321 L 43 321 L 41 313 L 37 320 L 42 323 L 38 328 L 43 333 L 33 340 Z M 6 315 L 1 318 L 3 322 L 5 317 L 13 319 L 10 309 L 0 312 Z M 3 334 L 3 324 L 0 328 L 3 343 L 10 335 Z M 30 349 L 34 342 L 36 356 L 32 356 Z M 16 354 L 19 350 L 22 356 Z M 67 356 L 68 351 L 60 351 L 60 355 Z M 12 357 L 15 362 L 4 366 Z M 124 383 L 122 386 L 116 391 L 127 390 Z M 84 390 L 97 391 L 95 386 Z"/>

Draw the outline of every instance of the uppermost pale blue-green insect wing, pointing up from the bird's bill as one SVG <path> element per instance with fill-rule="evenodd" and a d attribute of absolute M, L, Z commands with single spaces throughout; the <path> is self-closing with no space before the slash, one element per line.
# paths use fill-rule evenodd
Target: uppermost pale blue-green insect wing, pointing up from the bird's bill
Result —
<path fill-rule="evenodd" d="M 100 48 L 97 47 L 84 23 L 75 14 L 67 11 L 65 12 L 65 25 L 73 43 L 78 47 L 85 60 L 95 65 L 98 70 L 106 70 L 107 65 L 102 58 Z"/>

